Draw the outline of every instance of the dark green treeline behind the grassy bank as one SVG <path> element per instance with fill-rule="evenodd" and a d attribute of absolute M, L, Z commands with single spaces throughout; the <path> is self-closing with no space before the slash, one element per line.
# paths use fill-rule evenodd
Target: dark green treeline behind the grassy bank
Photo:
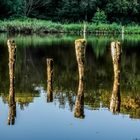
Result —
<path fill-rule="evenodd" d="M 0 19 L 140 23 L 139 0 L 0 0 Z"/>

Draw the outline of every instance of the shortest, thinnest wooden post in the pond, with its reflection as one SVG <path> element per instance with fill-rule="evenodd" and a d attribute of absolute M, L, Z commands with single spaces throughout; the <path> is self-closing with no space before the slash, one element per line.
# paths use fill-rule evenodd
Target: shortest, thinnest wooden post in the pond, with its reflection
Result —
<path fill-rule="evenodd" d="M 53 59 L 47 59 L 47 102 L 53 101 Z"/>

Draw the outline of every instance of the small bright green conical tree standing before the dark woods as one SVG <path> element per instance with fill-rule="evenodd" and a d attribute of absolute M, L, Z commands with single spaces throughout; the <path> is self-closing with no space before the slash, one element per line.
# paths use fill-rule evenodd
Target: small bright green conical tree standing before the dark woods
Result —
<path fill-rule="evenodd" d="M 97 9 L 97 12 L 94 14 L 92 18 L 92 22 L 99 24 L 99 23 L 107 23 L 107 16 L 103 10 Z"/>

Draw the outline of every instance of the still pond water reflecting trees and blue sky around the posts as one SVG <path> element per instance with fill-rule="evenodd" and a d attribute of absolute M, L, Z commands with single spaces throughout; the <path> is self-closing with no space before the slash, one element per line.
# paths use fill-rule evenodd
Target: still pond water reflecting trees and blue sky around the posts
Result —
<path fill-rule="evenodd" d="M 0 139 L 140 140 L 140 36 L 89 36 L 83 117 L 74 116 L 78 67 L 72 35 L 16 35 L 15 108 L 8 102 L 7 34 L 0 34 Z M 122 42 L 121 104 L 111 112 L 110 43 Z M 47 102 L 47 63 L 54 60 L 53 102 Z M 8 124 L 9 118 L 12 123 Z"/>

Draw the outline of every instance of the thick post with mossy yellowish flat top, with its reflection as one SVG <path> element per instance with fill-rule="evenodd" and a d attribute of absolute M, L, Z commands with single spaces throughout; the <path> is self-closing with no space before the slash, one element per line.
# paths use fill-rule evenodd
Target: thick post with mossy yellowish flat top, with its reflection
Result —
<path fill-rule="evenodd" d="M 79 86 L 76 96 L 74 116 L 84 118 L 84 64 L 85 64 L 86 40 L 75 41 L 75 52 L 79 71 Z"/>

